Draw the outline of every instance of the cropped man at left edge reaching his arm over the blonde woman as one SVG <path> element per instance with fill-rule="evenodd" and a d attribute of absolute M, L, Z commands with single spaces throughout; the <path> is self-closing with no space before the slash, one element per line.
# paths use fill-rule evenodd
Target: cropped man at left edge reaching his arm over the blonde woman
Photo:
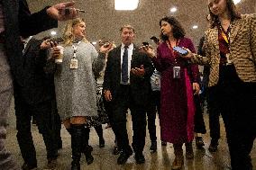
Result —
<path fill-rule="evenodd" d="M 7 115 L 13 96 L 13 77 L 23 85 L 21 73 L 22 47 L 20 35 L 28 37 L 40 31 L 57 27 L 56 20 L 68 20 L 77 16 L 75 9 L 69 13 L 66 7 L 74 3 L 60 3 L 31 14 L 25 0 L 0 1 L 0 167 L 5 170 L 18 168 L 5 148 Z"/>

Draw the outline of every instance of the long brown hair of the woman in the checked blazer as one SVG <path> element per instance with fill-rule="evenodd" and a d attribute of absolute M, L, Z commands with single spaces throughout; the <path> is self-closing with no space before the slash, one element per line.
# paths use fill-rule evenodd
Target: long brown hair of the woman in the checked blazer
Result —
<path fill-rule="evenodd" d="M 238 10 L 236 9 L 235 4 L 233 4 L 233 0 L 226 0 L 226 6 L 230 13 L 231 21 L 241 18 L 241 13 L 239 13 Z M 208 6 L 208 9 L 210 14 L 210 27 L 215 28 L 215 26 L 219 24 L 219 18 L 217 15 L 211 12 L 210 6 Z"/>

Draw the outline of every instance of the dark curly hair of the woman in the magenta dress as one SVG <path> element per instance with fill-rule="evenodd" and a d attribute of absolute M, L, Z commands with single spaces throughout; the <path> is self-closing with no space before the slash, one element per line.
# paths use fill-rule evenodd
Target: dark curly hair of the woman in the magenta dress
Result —
<path fill-rule="evenodd" d="M 180 39 L 183 38 L 186 34 L 185 30 L 181 26 L 181 24 L 178 22 L 178 20 L 173 17 L 173 16 L 165 16 L 162 19 L 160 19 L 160 27 L 161 27 L 161 22 L 169 22 L 169 24 L 173 27 L 172 32 L 173 32 L 173 37 L 175 39 Z M 169 37 L 167 35 L 164 35 L 162 32 L 160 32 L 160 38 L 161 40 L 168 40 Z"/>

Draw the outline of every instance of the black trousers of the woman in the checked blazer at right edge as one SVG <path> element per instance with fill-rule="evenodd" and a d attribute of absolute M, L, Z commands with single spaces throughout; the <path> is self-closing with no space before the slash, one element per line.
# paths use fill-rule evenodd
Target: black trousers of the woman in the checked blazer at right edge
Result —
<path fill-rule="evenodd" d="M 220 68 L 216 96 L 224 119 L 233 170 L 251 170 L 256 138 L 256 83 L 242 82 L 233 66 Z"/>

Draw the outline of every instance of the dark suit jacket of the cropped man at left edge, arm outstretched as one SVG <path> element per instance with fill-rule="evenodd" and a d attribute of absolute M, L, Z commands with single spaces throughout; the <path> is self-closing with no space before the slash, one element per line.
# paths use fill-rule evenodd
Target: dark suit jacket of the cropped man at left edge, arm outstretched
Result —
<path fill-rule="evenodd" d="M 5 13 L 5 51 L 9 59 L 15 81 L 23 85 L 22 47 L 20 35 L 27 37 L 57 27 L 58 22 L 51 19 L 46 9 L 31 14 L 25 0 L 2 1 Z"/>

